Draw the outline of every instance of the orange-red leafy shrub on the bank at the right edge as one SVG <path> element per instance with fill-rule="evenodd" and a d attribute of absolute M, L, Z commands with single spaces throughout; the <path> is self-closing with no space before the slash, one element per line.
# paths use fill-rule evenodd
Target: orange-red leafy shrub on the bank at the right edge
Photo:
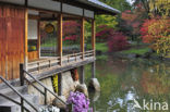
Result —
<path fill-rule="evenodd" d="M 145 20 L 141 28 L 142 39 L 150 43 L 158 54 L 166 57 L 170 53 L 170 20 L 156 17 Z"/>

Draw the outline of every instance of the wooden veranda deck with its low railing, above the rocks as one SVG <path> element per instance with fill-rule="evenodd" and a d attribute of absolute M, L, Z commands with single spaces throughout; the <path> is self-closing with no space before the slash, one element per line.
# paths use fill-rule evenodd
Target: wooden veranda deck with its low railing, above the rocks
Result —
<path fill-rule="evenodd" d="M 51 58 L 41 58 L 28 63 L 27 71 L 34 74 L 37 78 L 45 78 L 57 73 L 69 71 L 74 67 L 78 67 L 88 63 L 94 62 L 95 52 L 94 50 Z M 60 64 L 60 61 L 62 64 Z"/>

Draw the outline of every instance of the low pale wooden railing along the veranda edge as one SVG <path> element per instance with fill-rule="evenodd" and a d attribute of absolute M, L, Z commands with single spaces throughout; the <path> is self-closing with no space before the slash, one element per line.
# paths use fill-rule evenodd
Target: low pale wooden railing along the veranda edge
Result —
<path fill-rule="evenodd" d="M 64 66 L 64 65 L 72 64 L 74 62 L 81 62 L 81 61 L 84 61 L 86 59 L 94 58 L 94 57 L 95 57 L 95 51 L 89 50 L 84 53 L 78 52 L 78 53 L 63 55 L 62 58 L 60 57 L 47 58 L 45 60 L 29 62 L 27 65 L 27 71 L 34 72 L 34 71 L 50 69 L 52 66 L 61 66 L 61 65 Z"/>

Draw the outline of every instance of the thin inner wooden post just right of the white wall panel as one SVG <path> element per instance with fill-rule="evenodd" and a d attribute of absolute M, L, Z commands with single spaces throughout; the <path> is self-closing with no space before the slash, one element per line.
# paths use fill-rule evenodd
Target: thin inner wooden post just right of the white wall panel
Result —
<path fill-rule="evenodd" d="M 37 25 L 37 36 L 38 36 L 38 40 L 37 40 L 37 50 L 38 50 L 38 59 L 40 58 L 40 21 L 39 20 L 37 20 L 38 21 L 38 25 Z"/>

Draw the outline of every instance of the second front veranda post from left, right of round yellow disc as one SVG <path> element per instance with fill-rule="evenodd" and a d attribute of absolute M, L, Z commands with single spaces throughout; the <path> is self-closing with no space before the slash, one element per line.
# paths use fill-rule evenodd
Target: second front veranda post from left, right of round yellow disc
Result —
<path fill-rule="evenodd" d="M 58 22 L 58 30 L 59 30 L 58 55 L 60 57 L 60 65 L 62 65 L 62 21 L 63 21 L 63 15 L 61 13 L 59 15 L 59 22 Z"/>

